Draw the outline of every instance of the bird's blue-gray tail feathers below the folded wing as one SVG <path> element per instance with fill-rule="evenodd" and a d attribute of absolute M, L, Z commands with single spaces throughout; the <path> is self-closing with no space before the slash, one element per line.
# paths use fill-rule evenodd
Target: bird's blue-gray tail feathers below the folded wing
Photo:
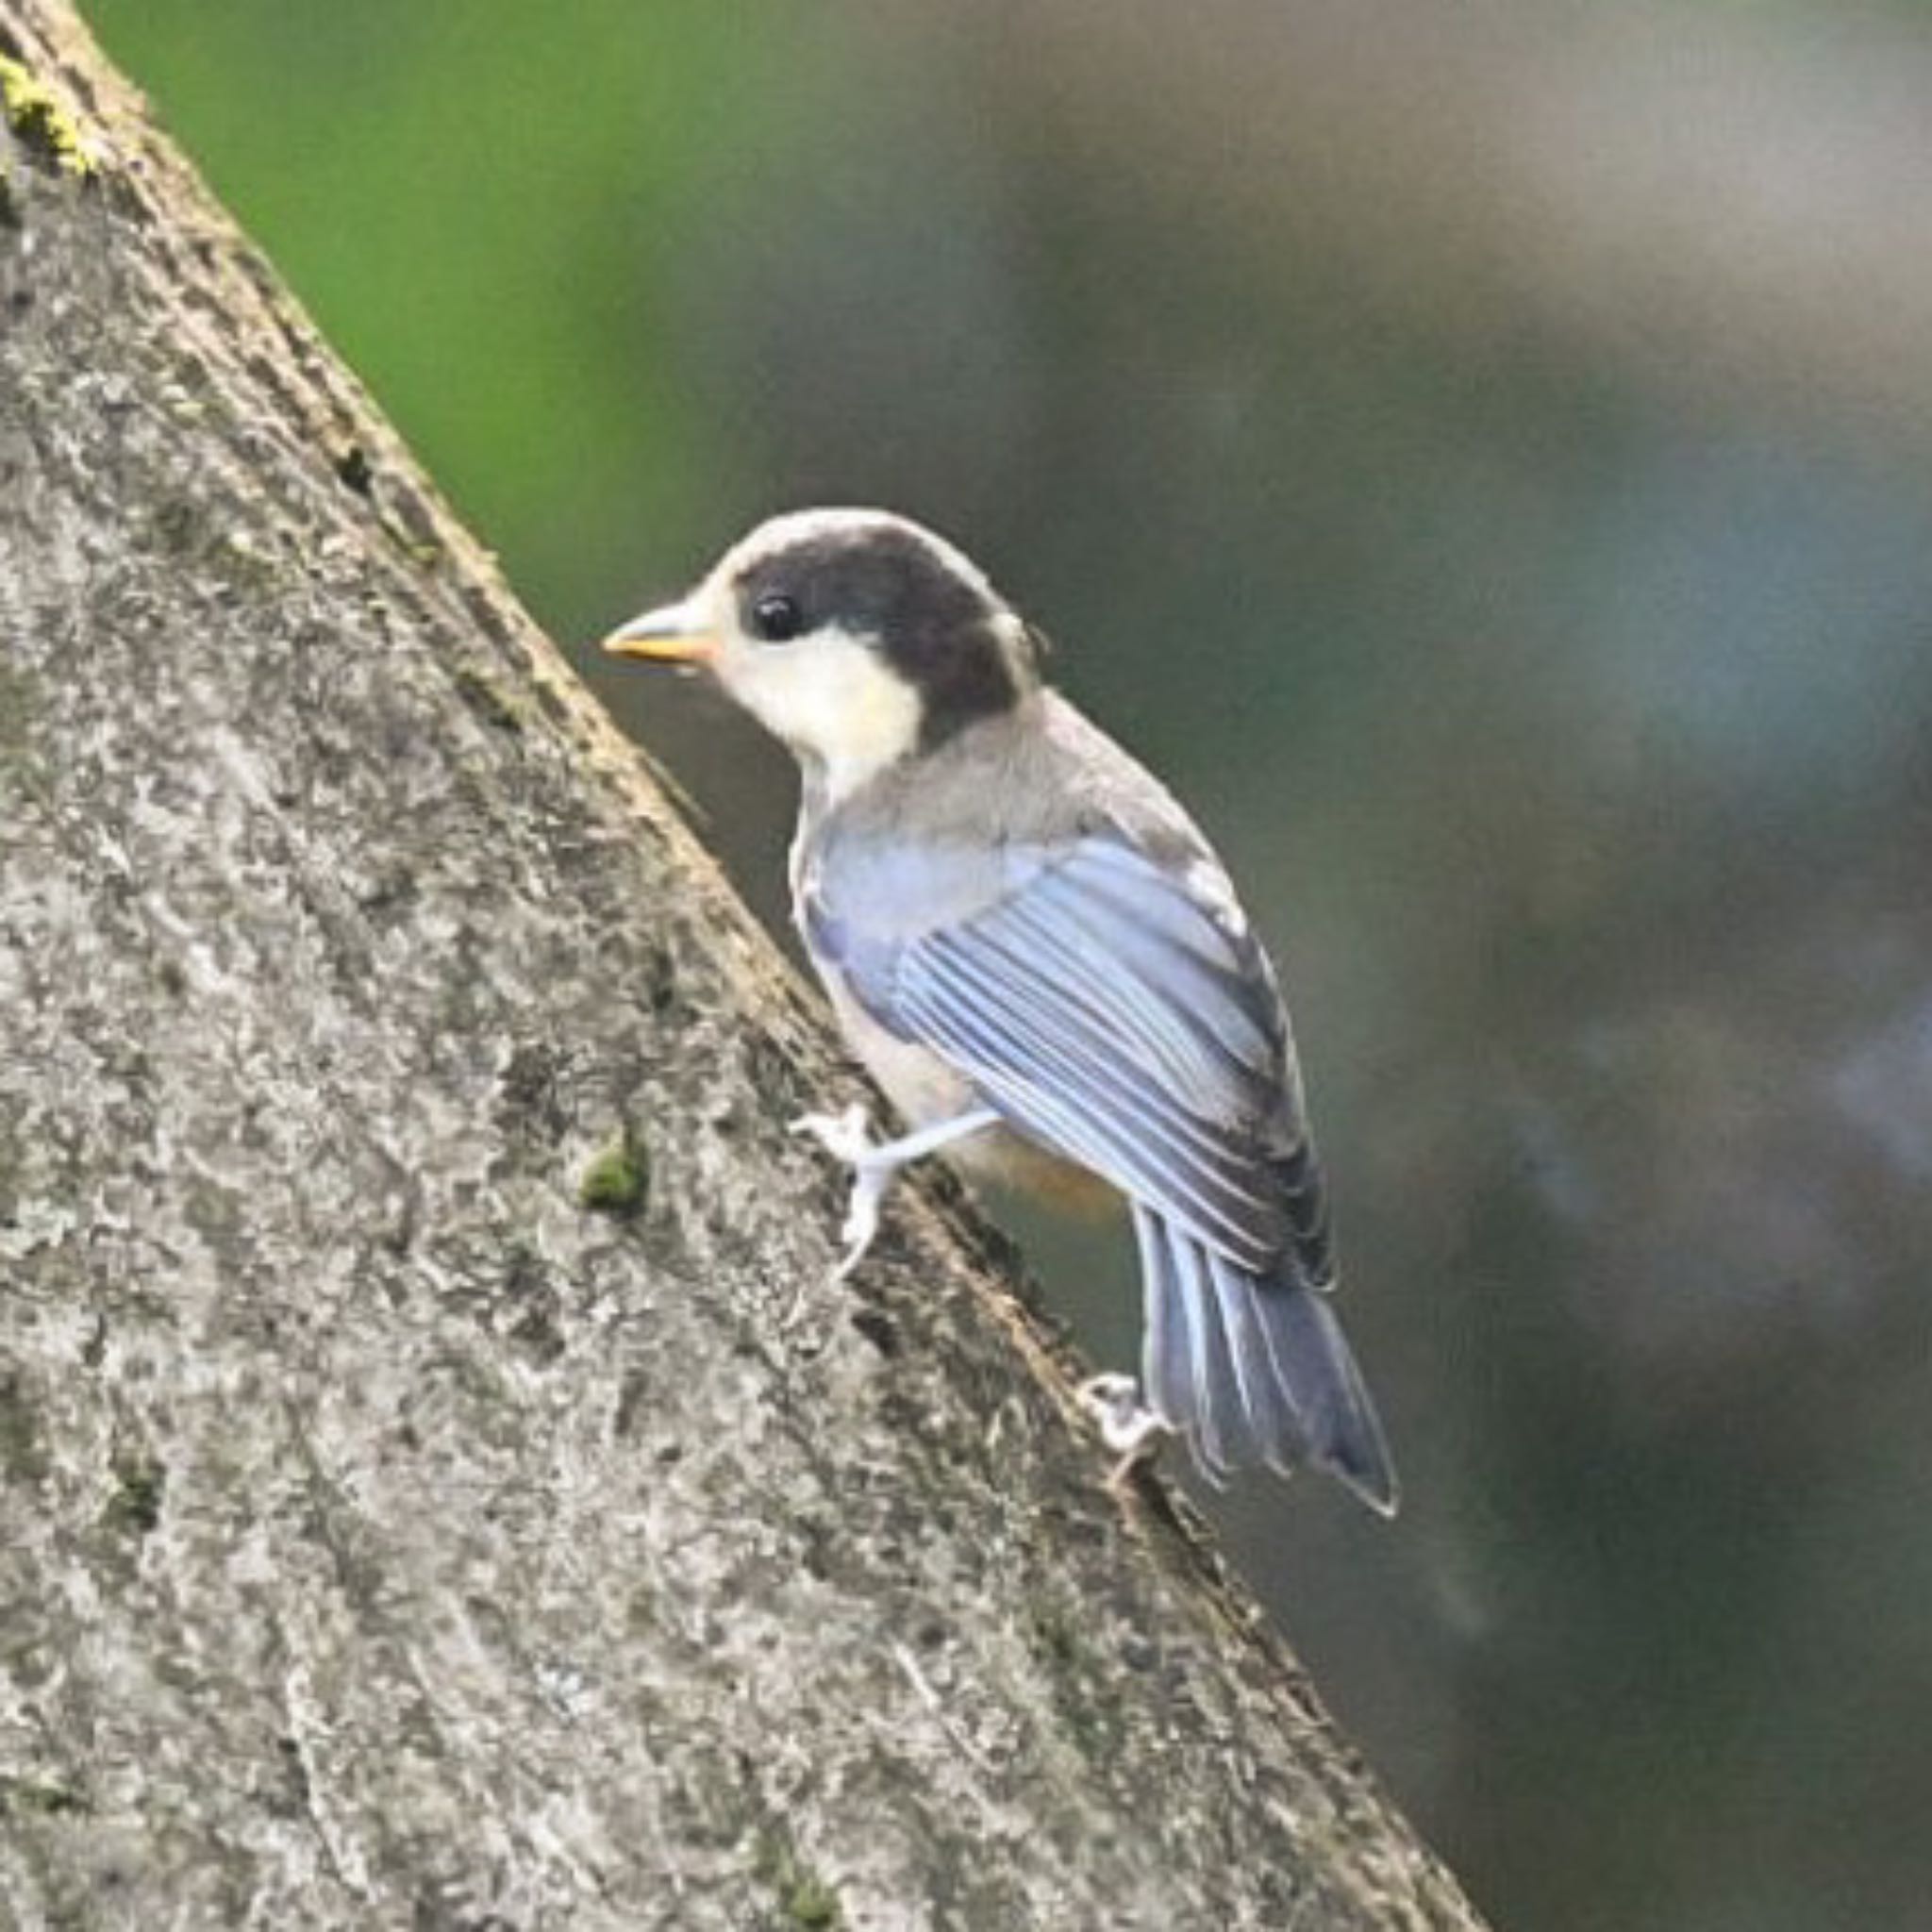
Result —
<path fill-rule="evenodd" d="M 1395 1464 L 1329 1298 L 1293 1264 L 1252 1275 L 1138 1204 L 1134 1233 L 1146 1399 L 1202 1468 L 1314 1463 L 1393 1515 Z"/>

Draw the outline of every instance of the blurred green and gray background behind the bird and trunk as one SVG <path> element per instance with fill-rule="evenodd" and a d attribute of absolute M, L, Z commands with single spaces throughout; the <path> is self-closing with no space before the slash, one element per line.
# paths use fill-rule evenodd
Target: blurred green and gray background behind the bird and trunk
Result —
<path fill-rule="evenodd" d="M 1497 1924 L 1932 1922 L 1928 12 L 89 14 L 769 916 L 782 757 L 583 643 L 775 508 L 1196 806 L 1406 1476 L 1213 1507 Z"/>

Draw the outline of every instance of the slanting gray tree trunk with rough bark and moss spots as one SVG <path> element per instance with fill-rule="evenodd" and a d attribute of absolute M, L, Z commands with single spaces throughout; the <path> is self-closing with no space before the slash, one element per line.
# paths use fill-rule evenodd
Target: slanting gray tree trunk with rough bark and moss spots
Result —
<path fill-rule="evenodd" d="M 0 60 L 0 1920 L 1474 1926 L 945 1182 L 823 1285 L 817 1005 Z"/>

